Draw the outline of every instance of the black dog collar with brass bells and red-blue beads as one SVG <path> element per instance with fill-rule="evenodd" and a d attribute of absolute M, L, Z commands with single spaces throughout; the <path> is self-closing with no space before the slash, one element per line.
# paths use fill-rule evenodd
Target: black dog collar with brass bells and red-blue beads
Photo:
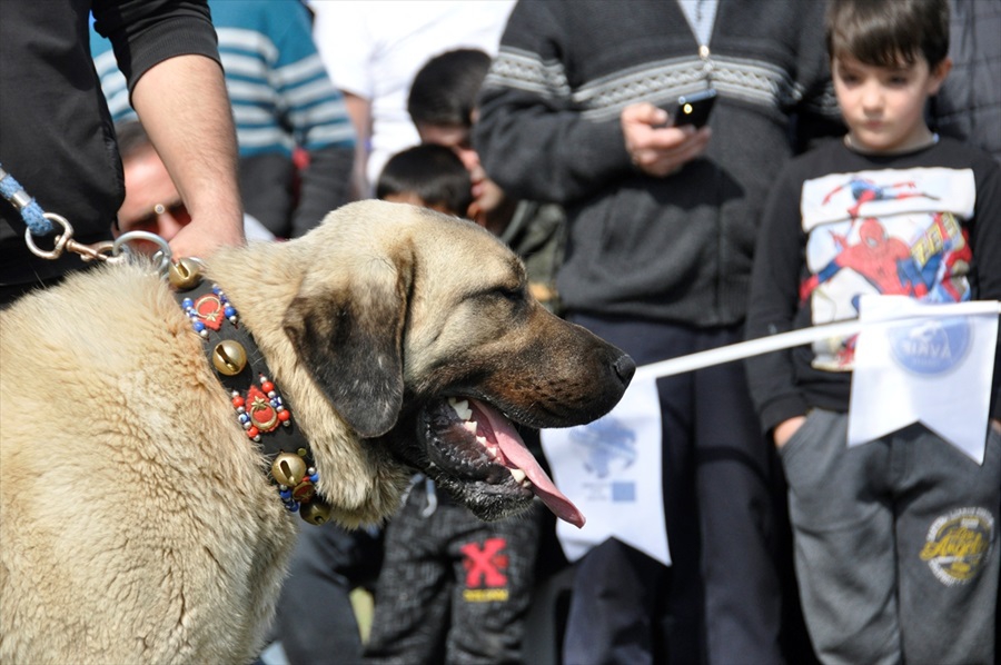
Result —
<path fill-rule="evenodd" d="M 264 355 L 240 326 L 236 308 L 218 285 L 202 279 L 198 261 L 175 262 L 169 279 L 192 329 L 206 341 L 209 365 L 230 393 L 236 419 L 270 461 L 269 479 L 277 485 L 285 507 L 310 524 L 326 523 L 330 507 L 316 495 L 319 476 L 309 444 L 268 378 L 271 374 Z"/>

